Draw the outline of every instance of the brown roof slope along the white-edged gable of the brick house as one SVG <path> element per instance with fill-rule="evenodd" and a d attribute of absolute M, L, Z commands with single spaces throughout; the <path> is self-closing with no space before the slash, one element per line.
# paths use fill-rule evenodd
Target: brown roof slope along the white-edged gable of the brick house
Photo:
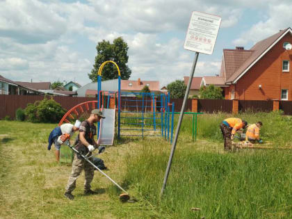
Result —
<path fill-rule="evenodd" d="M 265 51 L 267 51 L 267 49 L 274 42 L 276 42 L 280 37 L 282 37 L 284 35 L 284 33 L 286 33 L 286 31 L 288 31 L 289 29 L 290 28 L 284 29 L 283 31 L 279 31 L 279 33 L 276 33 L 276 34 L 270 36 L 269 38 L 266 38 L 265 40 L 261 40 L 261 41 L 257 42 L 257 44 L 255 44 L 250 49 L 250 51 L 252 51 L 252 54 L 250 54 L 250 57 L 248 57 L 240 67 L 238 66 L 237 70 L 234 72 L 234 74 L 229 76 L 229 78 L 227 79 L 226 82 L 233 82 L 234 80 L 236 80 L 238 78 L 238 76 L 240 76 L 243 72 L 245 72 L 245 70 L 247 70 L 248 67 L 250 67 L 250 65 L 252 65 L 252 63 L 254 63 L 254 61 L 256 61 Z M 290 29 L 290 31 L 291 31 L 291 29 Z M 226 63 L 225 63 L 225 70 L 227 68 L 228 68 L 228 66 L 226 66 Z"/>

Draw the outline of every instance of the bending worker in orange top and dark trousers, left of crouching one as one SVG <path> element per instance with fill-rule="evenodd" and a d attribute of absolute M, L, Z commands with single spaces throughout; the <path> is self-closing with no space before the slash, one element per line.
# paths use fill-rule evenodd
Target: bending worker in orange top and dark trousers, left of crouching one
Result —
<path fill-rule="evenodd" d="M 241 120 L 239 118 L 228 118 L 221 122 L 220 129 L 222 131 L 222 136 L 224 139 L 224 149 L 232 150 L 232 140 L 236 131 L 239 129 L 245 129 L 248 122 Z"/>

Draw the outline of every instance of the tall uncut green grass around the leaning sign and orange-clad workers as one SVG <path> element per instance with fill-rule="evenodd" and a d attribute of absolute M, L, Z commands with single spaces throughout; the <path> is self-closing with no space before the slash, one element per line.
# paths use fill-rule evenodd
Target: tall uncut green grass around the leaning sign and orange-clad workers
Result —
<path fill-rule="evenodd" d="M 168 186 L 159 193 L 168 163 L 170 146 L 143 142 L 137 156 L 129 155 L 125 180 L 140 198 L 158 206 L 169 218 L 291 218 L 291 150 L 217 152 L 201 147 L 204 141 L 222 144 L 219 124 L 225 113 L 198 115 L 197 143 L 190 143 L 191 115 L 185 115 L 172 162 Z M 263 122 L 261 137 L 272 146 L 290 144 L 291 117 L 281 113 L 236 115 L 250 124 Z M 178 116 L 175 117 L 175 124 Z M 203 141 L 202 141 L 203 140 Z M 197 149 L 203 148 L 203 149 Z M 191 208 L 200 208 L 192 211 Z"/>

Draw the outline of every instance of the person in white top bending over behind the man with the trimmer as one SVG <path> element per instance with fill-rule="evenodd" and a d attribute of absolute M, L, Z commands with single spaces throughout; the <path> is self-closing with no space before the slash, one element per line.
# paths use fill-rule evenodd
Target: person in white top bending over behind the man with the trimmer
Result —
<path fill-rule="evenodd" d="M 51 145 L 54 143 L 55 145 L 55 156 L 56 161 L 60 161 L 60 146 L 64 143 L 69 144 L 70 137 L 73 136 L 74 131 L 78 131 L 81 122 L 76 120 L 75 124 L 65 123 L 62 124 L 60 127 L 56 127 L 51 131 L 49 134 L 49 145 L 48 150 L 51 149 Z"/>

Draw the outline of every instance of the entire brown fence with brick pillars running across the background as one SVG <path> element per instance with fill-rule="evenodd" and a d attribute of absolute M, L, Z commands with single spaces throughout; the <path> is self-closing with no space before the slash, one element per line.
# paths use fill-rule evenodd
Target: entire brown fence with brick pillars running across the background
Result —
<path fill-rule="evenodd" d="M 97 100 L 95 97 L 53 97 L 63 108 L 69 110 L 77 104 L 88 102 L 91 100 Z M 0 119 L 3 119 L 6 115 L 9 115 L 11 119 L 15 119 L 15 111 L 17 108 L 26 108 L 27 104 L 33 104 L 35 101 L 44 99 L 44 96 L 34 95 L 0 95 Z M 131 99 L 131 101 L 129 101 Z M 137 100 L 137 101 L 136 101 Z M 140 111 L 142 102 L 138 101 L 138 97 L 127 97 L 121 99 L 122 111 Z M 104 107 L 108 102 L 107 98 L 104 98 Z M 175 112 L 181 111 L 183 99 L 170 99 L 170 103 L 175 103 Z M 193 103 L 197 105 L 194 107 Z M 282 110 L 285 115 L 292 115 L 292 102 L 291 101 L 276 101 L 278 102 L 278 108 L 275 108 L 277 104 L 275 101 L 264 101 L 264 100 L 238 100 L 238 106 L 236 106 L 238 112 L 270 112 L 273 110 Z M 136 107 L 134 107 L 136 106 Z M 147 106 L 147 111 L 151 111 L 153 108 L 152 99 L 147 98 L 147 102 L 144 103 Z M 156 103 L 156 110 L 160 111 L 160 103 Z M 170 108 L 171 110 L 171 108 Z M 234 100 L 229 99 L 188 99 L 186 103 L 185 111 L 197 111 L 204 113 L 216 113 L 234 112 Z"/>

